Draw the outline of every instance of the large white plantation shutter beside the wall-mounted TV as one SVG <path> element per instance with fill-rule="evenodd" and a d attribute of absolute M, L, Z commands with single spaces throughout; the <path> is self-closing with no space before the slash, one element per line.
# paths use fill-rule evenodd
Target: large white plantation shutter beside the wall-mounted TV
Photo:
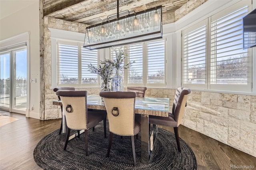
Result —
<path fill-rule="evenodd" d="M 239 6 L 211 17 L 211 84 L 247 85 L 248 50 L 243 49 L 242 35 L 242 18 L 247 12 L 247 6 Z"/>

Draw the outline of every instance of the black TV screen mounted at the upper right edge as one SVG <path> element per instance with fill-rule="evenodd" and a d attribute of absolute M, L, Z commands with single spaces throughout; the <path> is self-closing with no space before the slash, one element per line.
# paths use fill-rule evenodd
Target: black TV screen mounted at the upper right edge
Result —
<path fill-rule="evenodd" d="M 243 48 L 256 46 L 256 9 L 243 18 Z"/>

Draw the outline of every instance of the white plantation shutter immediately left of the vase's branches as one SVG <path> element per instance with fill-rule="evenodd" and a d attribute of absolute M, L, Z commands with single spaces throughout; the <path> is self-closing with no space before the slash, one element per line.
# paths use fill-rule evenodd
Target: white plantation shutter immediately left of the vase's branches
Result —
<path fill-rule="evenodd" d="M 88 65 L 94 65 L 98 67 L 98 50 L 89 50 L 81 47 L 81 75 L 82 75 L 82 84 L 97 84 L 98 75 L 96 73 L 90 73 Z"/>

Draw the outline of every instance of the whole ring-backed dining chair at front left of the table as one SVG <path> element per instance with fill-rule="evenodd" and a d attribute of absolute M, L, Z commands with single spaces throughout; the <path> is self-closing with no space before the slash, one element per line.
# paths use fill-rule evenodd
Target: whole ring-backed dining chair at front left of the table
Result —
<path fill-rule="evenodd" d="M 87 109 L 87 91 L 57 91 L 65 111 L 67 134 L 64 150 L 68 145 L 70 129 L 83 130 L 85 136 L 85 152 L 88 155 L 88 129 L 98 125 L 103 120 L 104 137 L 106 138 L 106 113 L 91 112 Z"/>

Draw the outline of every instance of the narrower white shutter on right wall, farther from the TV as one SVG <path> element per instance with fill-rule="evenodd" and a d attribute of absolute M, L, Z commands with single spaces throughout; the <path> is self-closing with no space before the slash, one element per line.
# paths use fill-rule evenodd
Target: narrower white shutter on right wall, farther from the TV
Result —
<path fill-rule="evenodd" d="M 183 84 L 185 86 L 206 83 L 206 22 L 207 20 L 204 20 L 183 31 Z"/>

